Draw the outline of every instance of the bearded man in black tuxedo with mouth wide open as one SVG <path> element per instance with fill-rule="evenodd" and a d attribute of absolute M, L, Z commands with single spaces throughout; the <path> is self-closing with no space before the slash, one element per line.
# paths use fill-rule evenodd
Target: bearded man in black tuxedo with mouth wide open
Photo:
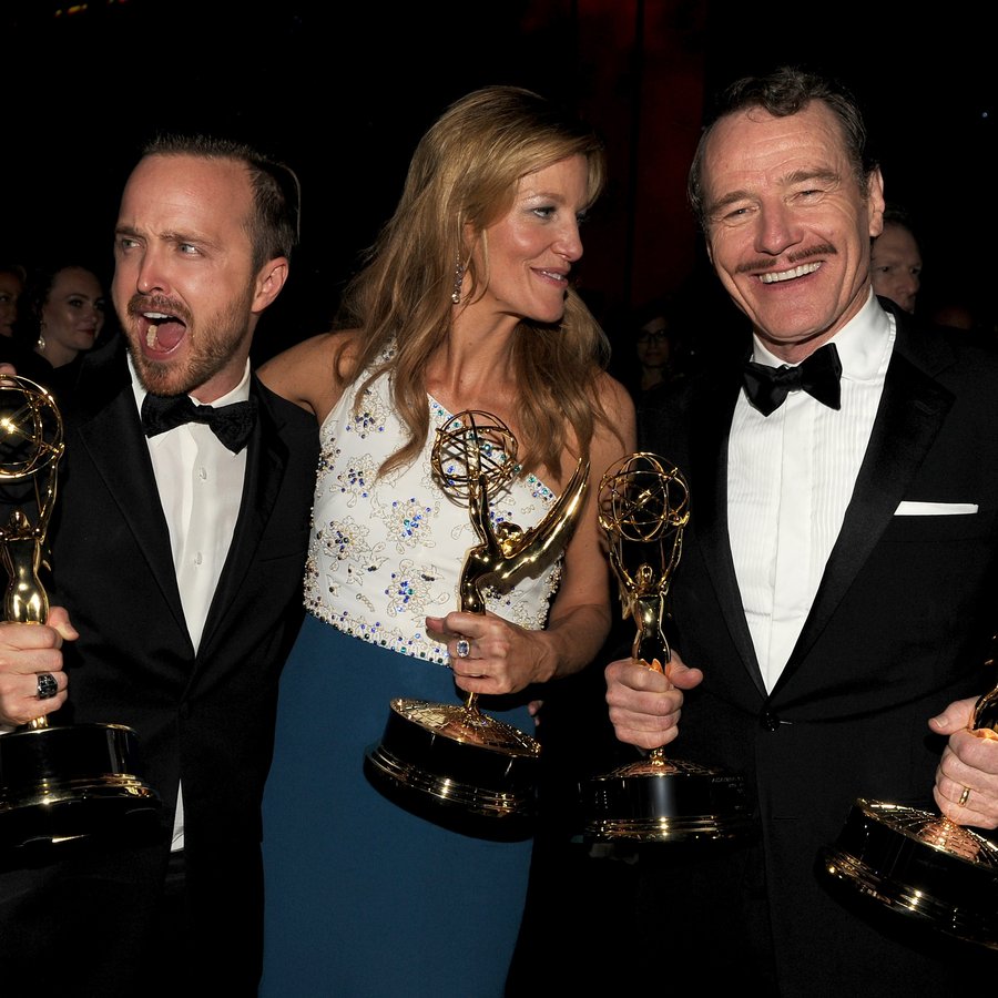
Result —
<path fill-rule="evenodd" d="M 86 357 L 64 413 L 52 609 L 0 625 L 0 722 L 133 729 L 162 821 L 0 857 L 4 988 L 256 994 L 259 804 L 318 432 L 249 349 L 287 278 L 295 192 L 286 167 L 205 136 L 155 140 L 126 182 L 123 336 Z"/>

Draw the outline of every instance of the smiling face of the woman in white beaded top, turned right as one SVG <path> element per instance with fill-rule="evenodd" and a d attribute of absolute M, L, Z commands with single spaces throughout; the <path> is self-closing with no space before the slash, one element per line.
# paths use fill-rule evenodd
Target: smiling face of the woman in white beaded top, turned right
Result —
<path fill-rule="evenodd" d="M 569 273 L 582 256 L 579 225 L 588 186 L 582 155 L 520 177 L 512 208 L 486 230 L 489 286 L 482 306 L 540 323 L 562 317 Z M 483 261 L 477 263 L 480 269 Z"/>

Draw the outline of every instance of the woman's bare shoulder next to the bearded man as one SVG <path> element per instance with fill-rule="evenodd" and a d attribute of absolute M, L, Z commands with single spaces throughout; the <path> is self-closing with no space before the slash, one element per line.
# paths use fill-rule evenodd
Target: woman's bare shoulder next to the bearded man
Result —
<path fill-rule="evenodd" d="M 322 422 L 349 381 L 355 356 L 355 330 L 320 333 L 267 360 L 259 368 L 259 379 Z"/>

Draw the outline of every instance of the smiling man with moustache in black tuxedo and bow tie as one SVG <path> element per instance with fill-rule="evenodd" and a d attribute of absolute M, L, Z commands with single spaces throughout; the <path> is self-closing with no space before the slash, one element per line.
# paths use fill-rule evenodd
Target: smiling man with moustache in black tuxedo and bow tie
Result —
<path fill-rule="evenodd" d="M 786 68 L 726 91 L 691 169 L 751 353 L 642 414 L 690 486 L 675 654 L 669 679 L 612 662 L 607 696 L 621 741 L 742 774 L 754 829 L 643 847 L 646 982 L 939 996 L 998 958 L 817 864 L 858 797 L 998 826 L 998 739 L 968 730 L 996 680 L 998 359 L 873 294 L 865 136 Z"/>

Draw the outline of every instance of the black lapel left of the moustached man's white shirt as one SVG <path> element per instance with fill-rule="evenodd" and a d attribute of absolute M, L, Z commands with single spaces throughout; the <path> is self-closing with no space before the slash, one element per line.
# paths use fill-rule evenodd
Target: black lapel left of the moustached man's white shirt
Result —
<path fill-rule="evenodd" d="M 727 529 L 727 445 L 742 383 L 737 371 L 704 386 L 693 407 L 690 520 L 731 639 L 765 696 L 762 671 L 745 620 Z M 683 469 L 680 468 L 682 471 Z"/>

